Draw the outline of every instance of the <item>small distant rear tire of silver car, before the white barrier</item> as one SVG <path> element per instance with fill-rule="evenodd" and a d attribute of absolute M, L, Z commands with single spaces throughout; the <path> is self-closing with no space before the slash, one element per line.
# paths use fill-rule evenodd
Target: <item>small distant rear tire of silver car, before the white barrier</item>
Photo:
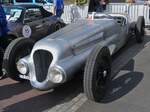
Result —
<path fill-rule="evenodd" d="M 139 16 L 135 28 L 137 43 L 142 43 L 144 41 L 144 33 L 145 33 L 144 28 L 145 28 L 145 19 L 143 16 Z"/>

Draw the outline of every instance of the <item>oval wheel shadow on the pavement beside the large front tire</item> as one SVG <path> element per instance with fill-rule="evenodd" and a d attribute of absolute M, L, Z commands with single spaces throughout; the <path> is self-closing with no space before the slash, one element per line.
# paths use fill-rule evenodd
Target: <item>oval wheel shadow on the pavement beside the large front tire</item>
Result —
<path fill-rule="evenodd" d="M 140 72 L 129 72 L 110 83 L 108 93 L 102 103 L 110 103 L 131 92 L 143 79 L 144 74 Z"/>

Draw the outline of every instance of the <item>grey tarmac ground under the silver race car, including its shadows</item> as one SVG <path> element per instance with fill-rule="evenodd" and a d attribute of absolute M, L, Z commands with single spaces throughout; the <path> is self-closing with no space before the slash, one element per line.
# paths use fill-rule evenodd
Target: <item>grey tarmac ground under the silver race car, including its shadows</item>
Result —
<path fill-rule="evenodd" d="M 6 78 L 0 81 L 0 112 L 150 112 L 149 35 L 146 30 L 142 44 L 130 39 L 113 57 L 113 79 L 102 102 L 87 100 L 80 77 L 50 91 Z"/>

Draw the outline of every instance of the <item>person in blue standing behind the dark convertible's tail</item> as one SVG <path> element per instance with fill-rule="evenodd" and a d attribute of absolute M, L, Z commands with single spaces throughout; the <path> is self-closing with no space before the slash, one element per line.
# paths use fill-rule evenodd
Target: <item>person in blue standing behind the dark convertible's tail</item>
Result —
<path fill-rule="evenodd" d="M 54 0 L 54 14 L 60 18 L 63 12 L 64 12 L 64 1 Z"/>

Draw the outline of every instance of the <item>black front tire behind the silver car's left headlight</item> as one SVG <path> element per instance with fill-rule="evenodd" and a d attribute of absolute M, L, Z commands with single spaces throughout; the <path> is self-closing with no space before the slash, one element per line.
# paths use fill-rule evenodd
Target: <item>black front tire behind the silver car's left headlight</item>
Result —
<path fill-rule="evenodd" d="M 10 78 L 16 81 L 23 81 L 19 77 L 19 72 L 16 68 L 16 62 L 30 54 L 34 45 L 34 41 L 29 38 L 17 38 L 12 41 L 4 53 L 2 70 Z"/>

